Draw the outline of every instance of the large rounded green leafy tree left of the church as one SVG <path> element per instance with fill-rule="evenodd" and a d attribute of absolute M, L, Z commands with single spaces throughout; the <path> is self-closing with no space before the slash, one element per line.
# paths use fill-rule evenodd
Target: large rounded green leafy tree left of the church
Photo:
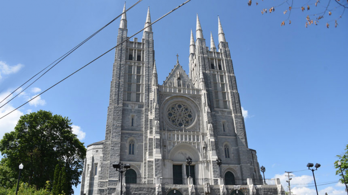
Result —
<path fill-rule="evenodd" d="M 68 117 L 42 110 L 21 116 L 15 130 L 5 133 L 0 141 L 4 156 L 0 167 L 6 167 L 11 179 L 18 177 L 18 165 L 23 163 L 21 181 L 41 189 L 46 181 L 54 180 L 59 164 L 66 169 L 66 194 L 73 194 L 72 185 L 80 182 L 86 148 L 72 133 L 71 124 Z M 8 178 L 0 177 L 0 185 L 8 185 Z"/>

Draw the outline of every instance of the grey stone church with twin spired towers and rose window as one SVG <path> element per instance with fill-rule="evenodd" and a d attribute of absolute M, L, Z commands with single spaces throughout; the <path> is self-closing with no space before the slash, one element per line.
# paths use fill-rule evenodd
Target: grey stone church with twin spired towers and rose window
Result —
<path fill-rule="evenodd" d="M 197 15 L 189 74 L 177 60 L 162 85 L 149 24 L 148 10 L 142 39 L 116 48 L 105 140 L 87 146 L 80 194 L 284 194 L 279 179 L 263 185 L 256 151 L 248 148 L 220 18 L 217 47 L 211 35 L 209 49 Z M 123 14 L 117 42 L 126 39 Z M 122 185 L 113 168 L 119 162 L 130 164 Z"/>

